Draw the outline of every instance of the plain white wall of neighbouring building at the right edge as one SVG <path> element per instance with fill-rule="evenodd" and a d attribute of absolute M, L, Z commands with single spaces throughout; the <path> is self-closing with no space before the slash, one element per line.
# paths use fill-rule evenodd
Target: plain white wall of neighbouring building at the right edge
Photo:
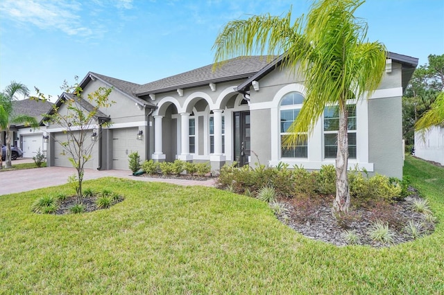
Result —
<path fill-rule="evenodd" d="M 415 132 L 415 156 L 444 165 L 444 128 L 432 127 L 424 136 Z"/>

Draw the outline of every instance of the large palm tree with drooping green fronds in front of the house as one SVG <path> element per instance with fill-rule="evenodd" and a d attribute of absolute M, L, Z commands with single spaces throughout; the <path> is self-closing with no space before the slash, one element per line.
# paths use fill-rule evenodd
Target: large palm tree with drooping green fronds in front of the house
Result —
<path fill-rule="evenodd" d="M 367 24 L 353 14 L 364 1 L 321 0 L 313 3 L 291 24 L 284 17 L 253 16 L 230 21 L 216 38 L 216 66 L 230 57 L 257 53 L 281 54 L 282 66 L 305 77 L 305 102 L 291 125 L 293 135 L 284 141 L 294 145 L 312 134 L 328 105 L 339 107 L 334 212 L 347 212 L 348 112 L 347 101 L 368 98 L 384 73 L 386 48 L 367 42 Z"/>

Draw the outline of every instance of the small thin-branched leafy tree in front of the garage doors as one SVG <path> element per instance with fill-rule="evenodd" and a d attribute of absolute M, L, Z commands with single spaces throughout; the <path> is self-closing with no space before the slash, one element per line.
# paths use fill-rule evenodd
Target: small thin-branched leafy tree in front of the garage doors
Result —
<path fill-rule="evenodd" d="M 78 77 L 75 78 L 76 81 Z M 96 141 L 91 138 L 94 128 L 109 127 L 109 118 L 101 115 L 100 109 L 110 107 L 114 101 L 109 100 L 112 88 L 99 87 L 96 91 L 88 93 L 87 98 L 83 98 L 83 89 L 78 82 L 70 86 L 65 80 L 61 87 L 65 93 L 60 96 L 58 103 L 53 105 L 49 114 L 45 115 L 45 121 L 61 127 L 66 134 L 66 141 L 57 141 L 62 146 L 63 152 L 69 157 L 72 166 L 76 168 L 74 175 L 77 183 L 76 195 L 77 203 L 80 204 L 83 197 L 82 182 L 85 163 L 92 156 L 92 150 Z M 46 97 L 36 88 L 38 98 L 46 101 Z M 60 109 L 64 106 L 66 111 Z M 101 128 L 99 128 L 101 129 Z M 100 133 L 100 132 L 99 132 Z M 101 136 L 101 134 L 96 134 Z M 70 178 L 70 182 L 74 179 Z"/>

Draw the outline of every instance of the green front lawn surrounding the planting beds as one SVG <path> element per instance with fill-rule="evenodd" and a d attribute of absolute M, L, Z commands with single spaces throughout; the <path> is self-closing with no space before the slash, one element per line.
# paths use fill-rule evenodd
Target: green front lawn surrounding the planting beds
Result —
<path fill-rule="evenodd" d="M 304 238 L 268 204 L 214 188 L 85 181 L 126 199 L 63 216 L 30 208 L 67 185 L 4 195 L 0 294 L 441 294 L 444 170 L 411 157 L 404 168 L 439 223 L 382 249 Z"/>

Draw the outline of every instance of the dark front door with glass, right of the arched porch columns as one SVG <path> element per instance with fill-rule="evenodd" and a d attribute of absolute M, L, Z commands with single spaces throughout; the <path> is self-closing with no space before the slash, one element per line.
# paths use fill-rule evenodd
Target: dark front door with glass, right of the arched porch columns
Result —
<path fill-rule="evenodd" d="M 250 158 L 250 111 L 234 112 L 234 161 L 240 167 Z"/>

